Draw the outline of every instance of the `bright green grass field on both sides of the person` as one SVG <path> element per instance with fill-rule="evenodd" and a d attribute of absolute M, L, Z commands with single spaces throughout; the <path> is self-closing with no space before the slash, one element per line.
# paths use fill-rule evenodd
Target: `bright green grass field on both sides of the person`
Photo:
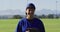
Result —
<path fill-rule="evenodd" d="M 46 32 L 60 32 L 60 19 L 41 19 Z M 19 19 L 0 19 L 0 32 L 15 32 Z"/>

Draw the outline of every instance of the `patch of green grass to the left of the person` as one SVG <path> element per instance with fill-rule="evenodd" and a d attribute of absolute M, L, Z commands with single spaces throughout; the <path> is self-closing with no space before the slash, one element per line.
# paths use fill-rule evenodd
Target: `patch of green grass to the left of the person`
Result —
<path fill-rule="evenodd" d="M 18 19 L 1 19 L 0 32 L 15 32 Z"/>

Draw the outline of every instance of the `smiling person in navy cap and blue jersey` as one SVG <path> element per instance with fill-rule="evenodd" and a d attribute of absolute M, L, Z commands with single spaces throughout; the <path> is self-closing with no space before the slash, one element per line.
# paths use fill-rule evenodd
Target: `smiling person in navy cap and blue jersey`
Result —
<path fill-rule="evenodd" d="M 43 22 L 34 17 L 35 9 L 36 7 L 33 3 L 28 4 L 25 11 L 26 17 L 18 22 L 16 32 L 45 32 Z"/>

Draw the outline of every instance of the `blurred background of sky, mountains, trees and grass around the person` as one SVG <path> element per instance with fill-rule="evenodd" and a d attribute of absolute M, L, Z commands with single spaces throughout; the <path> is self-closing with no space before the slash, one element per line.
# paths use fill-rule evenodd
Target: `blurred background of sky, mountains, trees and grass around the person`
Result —
<path fill-rule="evenodd" d="M 60 32 L 60 0 L 0 0 L 0 32 L 15 32 L 29 3 L 35 4 L 46 32 Z"/>

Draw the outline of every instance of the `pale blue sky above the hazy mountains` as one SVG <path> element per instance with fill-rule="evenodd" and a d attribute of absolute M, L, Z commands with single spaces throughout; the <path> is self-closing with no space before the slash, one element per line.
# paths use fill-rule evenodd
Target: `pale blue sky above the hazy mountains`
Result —
<path fill-rule="evenodd" d="M 24 12 L 29 3 L 35 4 L 38 11 L 42 9 L 56 10 L 56 1 L 57 10 L 60 11 L 60 0 L 0 0 L 0 12 L 5 10 L 20 10 Z"/>

